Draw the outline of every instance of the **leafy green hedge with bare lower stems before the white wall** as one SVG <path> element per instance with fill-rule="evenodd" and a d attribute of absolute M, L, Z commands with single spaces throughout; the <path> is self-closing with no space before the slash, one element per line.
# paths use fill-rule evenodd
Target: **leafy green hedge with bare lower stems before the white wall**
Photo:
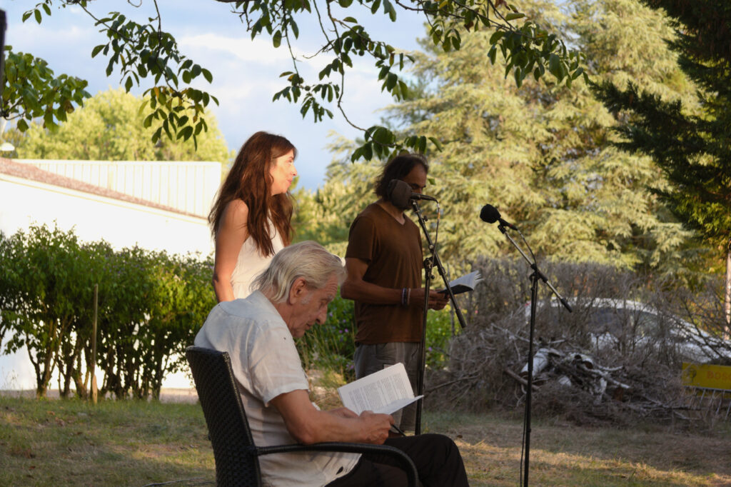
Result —
<path fill-rule="evenodd" d="M 115 251 L 80 243 L 72 231 L 32 225 L 0 233 L 0 338 L 4 352 L 25 345 L 45 396 L 55 369 L 61 396 L 86 396 L 92 365 L 94 286 L 98 285 L 96 366 L 100 392 L 158 397 L 164 376 L 215 305 L 210 260 L 139 247 Z"/>

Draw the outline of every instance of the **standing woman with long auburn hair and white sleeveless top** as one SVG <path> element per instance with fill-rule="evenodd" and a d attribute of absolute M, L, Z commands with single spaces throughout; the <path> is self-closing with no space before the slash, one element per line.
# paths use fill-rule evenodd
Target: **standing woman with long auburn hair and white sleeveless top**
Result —
<path fill-rule="evenodd" d="M 216 239 L 216 299 L 246 298 L 251 282 L 292 241 L 292 196 L 297 149 L 281 135 L 257 132 L 246 140 L 213 203 L 208 223 Z"/>

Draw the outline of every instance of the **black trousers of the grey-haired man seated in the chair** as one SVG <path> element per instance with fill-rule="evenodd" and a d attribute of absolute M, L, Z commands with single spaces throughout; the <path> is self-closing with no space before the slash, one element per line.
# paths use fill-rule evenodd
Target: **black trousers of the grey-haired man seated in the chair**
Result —
<path fill-rule="evenodd" d="M 406 453 L 416 465 L 424 487 L 469 486 L 459 448 L 442 434 L 420 434 L 414 437 L 393 437 L 389 445 Z M 353 469 L 327 484 L 327 487 L 406 486 L 406 472 L 393 457 L 364 454 Z"/>

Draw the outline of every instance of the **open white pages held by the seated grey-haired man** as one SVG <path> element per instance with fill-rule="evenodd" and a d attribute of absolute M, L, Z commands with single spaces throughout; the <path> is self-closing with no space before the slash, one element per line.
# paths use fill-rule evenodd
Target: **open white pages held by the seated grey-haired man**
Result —
<path fill-rule="evenodd" d="M 363 411 L 390 415 L 424 396 L 414 397 L 403 363 L 374 372 L 338 388 L 343 406 L 360 415 Z"/>

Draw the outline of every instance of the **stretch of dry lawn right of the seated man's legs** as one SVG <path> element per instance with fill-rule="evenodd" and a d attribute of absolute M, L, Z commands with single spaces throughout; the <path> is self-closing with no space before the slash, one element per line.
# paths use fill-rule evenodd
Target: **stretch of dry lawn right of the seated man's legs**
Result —
<path fill-rule="evenodd" d="M 473 486 L 520 481 L 522 418 L 426 415 L 425 429 L 454 438 Z M 731 427 L 705 434 L 645 424 L 582 428 L 533 421 L 529 483 L 539 486 L 731 486 Z"/>

